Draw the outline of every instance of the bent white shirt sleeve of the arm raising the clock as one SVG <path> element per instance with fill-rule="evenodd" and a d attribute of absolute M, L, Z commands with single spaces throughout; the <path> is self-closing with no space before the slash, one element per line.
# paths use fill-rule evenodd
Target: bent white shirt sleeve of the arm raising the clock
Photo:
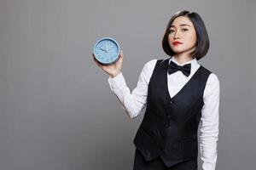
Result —
<path fill-rule="evenodd" d="M 126 85 L 125 77 L 122 72 L 116 77 L 108 77 L 108 83 L 111 90 L 119 99 L 122 108 L 131 119 L 138 116 L 147 105 L 148 82 L 152 76 L 155 63 L 156 59 L 152 59 L 143 66 L 143 71 L 138 79 L 137 87 L 133 89 L 132 93 L 130 88 Z"/>

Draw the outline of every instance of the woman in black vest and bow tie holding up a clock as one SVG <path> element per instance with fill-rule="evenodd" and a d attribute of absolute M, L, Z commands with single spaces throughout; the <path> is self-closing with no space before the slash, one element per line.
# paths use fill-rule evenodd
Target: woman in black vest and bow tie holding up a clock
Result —
<path fill-rule="evenodd" d="M 169 21 L 162 39 L 168 59 L 143 66 L 137 87 L 130 92 L 122 75 L 123 52 L 113 65 L 96 64 L 110 77 L 110 88 L 131 118 L 146 107 L 134 139 L 134 170 L 197 169 L 198 137 L 202 168 L 217 161 L 218 77 L 197 63 L 207 54 L 207 29 L 199 14 L 180 11 Z"/>

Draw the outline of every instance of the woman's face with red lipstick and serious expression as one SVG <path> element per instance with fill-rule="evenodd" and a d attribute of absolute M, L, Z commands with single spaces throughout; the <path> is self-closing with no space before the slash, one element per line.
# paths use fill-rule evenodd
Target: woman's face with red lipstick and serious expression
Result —
<path fill-rule="evenodd" d="M 195 27 L 188 17 L 178 16 L 173 20 L 168 42 L 175 54 L 189 54 L 195 49 Z"/>

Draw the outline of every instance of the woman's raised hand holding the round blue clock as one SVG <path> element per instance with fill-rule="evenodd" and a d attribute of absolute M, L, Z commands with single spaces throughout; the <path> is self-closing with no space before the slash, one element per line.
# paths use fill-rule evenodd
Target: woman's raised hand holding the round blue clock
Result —
<path fill-rule="evenodd" d="M 122 50 L 120 51 L 119 59 L 112 65 L 102 65 L 101 63 L 99 63 L 96 60 L 94 54 L 92 54 L 92 56 L 93 56 L 94 61 L 96 62 L 96 65 L 98 65 L 100 68 L 102 68 L 103 71 L 107 72 L 109 76 L 115 77 L 120 73 L 122 65 L 123 65 L 123 58 L 124 58 Z"/>

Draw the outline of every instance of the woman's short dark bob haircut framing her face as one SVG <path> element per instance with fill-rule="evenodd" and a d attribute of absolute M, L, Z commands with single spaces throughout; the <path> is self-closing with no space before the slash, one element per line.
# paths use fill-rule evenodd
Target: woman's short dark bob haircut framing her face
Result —
<path fill-rule="evenodd" d="M 175 54 L 172 51 L 172 48 L 170 48 L 169 42 L 168 42 L 168 36 L 170 34 L 170 26 L 172 26 L 173 20 L 175 20 L 179 16 L 186 16 L 191 20 L 195 27 L 196 32 L 196 44 L 195 44 L 195 50 L 192 51 L 190 54 L 192 54 L 193 59 L 201 59 L 204 57 L 208 49 L 210 47 L 209 37 L 207 33 L 207 28 L 201 19 L 201 16 L 195 12 L 189 12 L 187 10 L 179 11 L 176 14 L 172 16 L 172 18 L 169 20 L 168 25 L 166 27 L 166 32 L 164 34 L 164 37 L 162 39 L 162 48 L 166 52 L 166 54 L 172 56 Z"/>

